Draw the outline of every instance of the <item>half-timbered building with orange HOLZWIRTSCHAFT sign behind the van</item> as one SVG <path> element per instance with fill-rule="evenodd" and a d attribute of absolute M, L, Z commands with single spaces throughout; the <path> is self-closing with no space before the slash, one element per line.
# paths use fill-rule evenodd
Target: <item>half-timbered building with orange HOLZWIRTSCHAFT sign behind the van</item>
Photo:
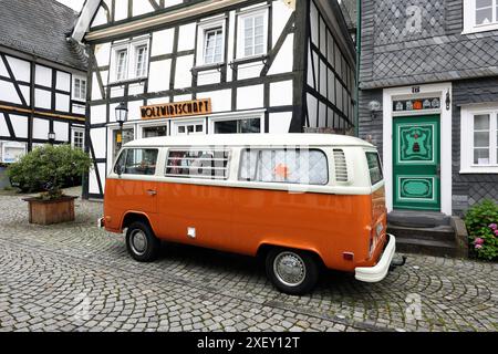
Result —
<path fill-rule="evenodd" d="M 121 104 L 123 142 L 354 126 L 355 51 L 335 0 L 87 0 L 72 38 L 90 54 L 86 197 L 103 195 Z"/>

